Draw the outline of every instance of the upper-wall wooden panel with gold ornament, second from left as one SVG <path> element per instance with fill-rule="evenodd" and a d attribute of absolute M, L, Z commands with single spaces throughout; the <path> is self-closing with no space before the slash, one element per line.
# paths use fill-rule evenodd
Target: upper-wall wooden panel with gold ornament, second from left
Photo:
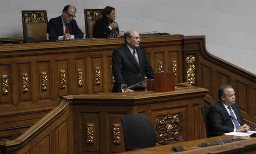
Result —
<path fill-rule="evenodd" d="M 20 79 L 20 103 L 32 103 L 32 78 L 31 78 L 31 64 L 18 63 L 19 78 Z M 34 94 L 34 93 L 33 93 Z M 36 95 L 36 94 L 35 94 Z"/>

